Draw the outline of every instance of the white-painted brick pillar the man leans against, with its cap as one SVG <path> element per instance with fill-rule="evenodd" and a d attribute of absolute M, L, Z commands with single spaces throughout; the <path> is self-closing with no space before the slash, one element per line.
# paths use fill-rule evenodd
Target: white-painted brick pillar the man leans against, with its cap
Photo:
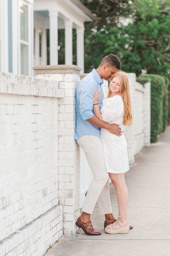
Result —
<path fill-rule="evenodd" d="M 64 65 L 63 65 L 64 66 Z M 73 235 L 77 227 L 75 222 L 80 214 L 79 205 L 79 170 L 80 152 L 79 146 L 74 141 L 75 128 L 75 93 L 80 76 L 75 70 L 48 74 L 48 70 L 38 71 L 37 78 L 56 81 L 59 89 L 65 91 L 65 97 L 58 100 L 59 105 L 59 142 L 58 142 L 58 171 L 59 171 L 59 204 L 63 205 L 64 234 Z M 62 67 L 62 65 L 60 66 Z M 67 73 L 69 72 L 69 73 Z M 42 74 L 40 74 L 42 73 Z"/>

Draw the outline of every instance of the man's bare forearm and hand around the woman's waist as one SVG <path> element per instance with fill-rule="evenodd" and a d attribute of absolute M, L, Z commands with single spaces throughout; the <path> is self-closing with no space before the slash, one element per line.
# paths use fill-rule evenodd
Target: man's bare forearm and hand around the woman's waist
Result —
<path fill-rule="evenodd" d="M 107 122 L 100 120 L 96 115 L 94 115 L 92 118 L 87 119 L 90 124 L 93 124 L 95 126 L 107 129 L 109 132 L 121 136 L 121 128 L 119 127 L 119 124 L 108 124 Z"/>

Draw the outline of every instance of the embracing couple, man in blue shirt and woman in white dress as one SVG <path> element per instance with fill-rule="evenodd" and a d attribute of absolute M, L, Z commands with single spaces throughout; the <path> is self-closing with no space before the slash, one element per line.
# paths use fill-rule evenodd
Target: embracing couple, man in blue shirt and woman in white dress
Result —
<path fill-rule="evenodd" d="M 87 235 L 101 235 L 90 221 L 96 202 L 99 212 L 105 215 L 105 232 L 128 233 L 132 228 L 127 218 L 128 191 L 124 175 L 129 164 L 122 127 L 122 124 L 132 124 L 132 111 L 127 75 L 118 71 L 120 68 L 116 55 L 105 56 L 99 67 L 79 82 L 76 91 L 74 139 L 85 152 L 94 175 L 82 206 L 82 215 L 76 221 L 77 227 Z M 103 105 L 102 79 L 110 78 L 108 99 Z M 109 177 L 116 188 L 117 220 L 111 209 Z"/>

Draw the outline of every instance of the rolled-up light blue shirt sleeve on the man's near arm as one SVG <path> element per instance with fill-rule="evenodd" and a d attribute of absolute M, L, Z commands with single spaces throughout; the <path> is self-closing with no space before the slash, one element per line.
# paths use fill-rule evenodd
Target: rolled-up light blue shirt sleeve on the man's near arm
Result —
<path fill-rule="evenodd" d="M 85 85 L 83 85 L 79 91 L 79 110 L 83 120 L 87 120 L 94 116 L 94 99 L 91 96 L 94 89 L 96 89 L 96 85 L 86 81 Z"/>

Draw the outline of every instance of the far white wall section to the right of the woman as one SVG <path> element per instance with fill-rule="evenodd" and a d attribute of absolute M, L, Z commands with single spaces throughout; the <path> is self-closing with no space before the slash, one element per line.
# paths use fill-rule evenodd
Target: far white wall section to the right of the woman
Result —
<path fill-rule="evenodd" d="M 133 109 L 133 125 L 125 126 L 129 163 L 144 146 L 150 145 L 150 82 L 136 82 L 136 74 L 127 73 Z"/>

